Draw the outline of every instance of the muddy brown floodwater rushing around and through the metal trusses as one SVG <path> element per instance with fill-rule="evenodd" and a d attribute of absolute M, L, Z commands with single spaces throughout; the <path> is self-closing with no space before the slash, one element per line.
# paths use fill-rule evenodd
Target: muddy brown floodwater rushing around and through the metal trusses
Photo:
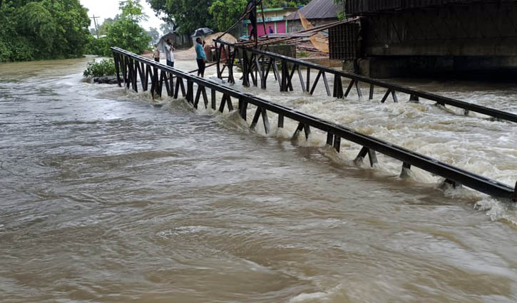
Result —
<path fill-rule="evenodd" d="M 265 135 L 236 113 L 84 83 L 88 60 L 0 65 L 0 302 L 517 301 L 508 203 L 421 170 L 400 178 L 382 156 L 357 166 L 359 146 L 291 140 L 289 120 Z M 517 113 L 513 84 L 394 81 Z M 515 123 L 407 96 L 380 104 L 381 90 L 268 87 L 235 85 L 517 179 Z"/>

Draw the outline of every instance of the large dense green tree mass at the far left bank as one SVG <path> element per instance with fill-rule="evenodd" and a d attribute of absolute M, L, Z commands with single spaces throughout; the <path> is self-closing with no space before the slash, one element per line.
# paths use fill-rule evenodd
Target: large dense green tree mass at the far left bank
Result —
<path fill-rule="evenodd" d="M 2 1 L 0 61 L 82 56 L 89 25 L 78 0 Z"/>

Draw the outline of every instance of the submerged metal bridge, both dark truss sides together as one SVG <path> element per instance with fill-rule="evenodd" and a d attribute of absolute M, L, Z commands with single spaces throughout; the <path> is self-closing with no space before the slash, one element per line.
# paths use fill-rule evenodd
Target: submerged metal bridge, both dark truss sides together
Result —
<path fill-rule="evenodd" d="M 384 83 L 372 78 L 365 78 L 353 74 L 343 73 L 342 71 L 335 71 L 332 69 L 324 68 L 323 66 L 317 66 L 316 64 L 307 63 L 304 61 L 297 61 L 294 58 L 284 57 L 275 53 L 269 53 L 267 51 L 259 51 L 256 49 L 240 49 L 238 47 L 232 47 L 230 43 L 224 41 L 217 41 L 219 44 L 219 51 L 227 51 L 226 58 L 236 58 L 240 52 L 242 54 L 242 71 L 243 81 L 245 85 L 250 85 L 249 78 L 252 78 L 252 83 L 257 86 L 257 75 L 260 75 L 261 86 L 265 88 L 265 80 L 269 71 L 277 77 L 279 81 L 280 91 L 292 90 L 292 78 L 293 75 L 298 73 L 303 91 L 308 93 L 314 92 L 314 87 L 317 85 L 319 78 L 324 80 L 324 85 L 327 94 L 330 96 L 329 83 L 327 81 L 327 74 L 334 76 L 334 96 L 342 98 L 346 96 L 349 91 L 355 87 L 360 93 L 359 82 L 369 83 L 372 86 L 381 86 L 387 88 L 386 96 L 383 98 L 383 102 L 388 98 L 389 95 L 394 101 L 397 101 L 396 91 L 408 93 L 411 95 L 413 100 L 418 98 L 428 98 L 431 101 L 437 103 L 447 104 L 450 106 L 457 106 L 464 108 L 467 111 L 476 111 L 485 115 L 491 115 L 494 118 L 502 120 L 508 120 L 517 122 L 517 115 L 512 113 L 506 113 L 503 111 L 497 111 L 491 108 L 483 108 L 482 106 L 476 106 L 471 103 L 465 103 L 463 101 L 456 101 L 451 98 L 444 98 L 421 91 L 414 91 L 409 88 L 402 86 L 394 86 L 389 83 Z M 185 71 L 180 71 L 176 68 L 165 66 L 161 63 L 156 63 L 148 58 L 135 55 L 121 48 L 113 47 L 113 58 L 116 63 L 116 73 L 118 85 L 124 85 L 126 88 L 131 88 L 133 91 L 138 91 L 138 83 L 143 91 L 148 91 L 155 96 L 158 94 L 161 96 L 163 93 L 163 86 L 165 86 L 167 95 L 173 98 L 181 96 L 185 97 L 188 103 L 193 104 L 194 108 L 198 108 L 200 101 L 203 101 L 205 108 L 210 106 L 213 110 L 224 111 L 225 108 L 228 111 L 238 111 L 240 117 L 243 120 L 247 120 L 247 112 L 255 111 L 253 118 L 250 122 L 250 128 L 255 128 L 262 118 L 262 123 L 266 133 L 270 132 L 272 120 L 270 120 L 268 113 L 275 113 L 277 115 L 277 127 L 283 128 L 285 118 L 294 120 L 298 123 L 298 127 L 295 130 L 293 138 L 296 138 L 300 133 L 304 133 L 305 137 L 308 138 L 309 134 L 313 129 L 321 130 L 327 133 L 327 145 L 331 145 L 337 153 L 341 146 L 341 140 L 349 140 L 350 142 L 357 143 L 362 146 L 359 151 L 356 163 L 362 163 L 365 157 L 368 156 L 370 165 L 377 163 L 377 153 L 382 153 L 391 158 L 402 162 L 402 173 L 407 173 L 411 170 L 411 167 L 420 168 L 427 172 L 441 176 L 445 178 L 445 182 L 453 185 L 454 187 L 464 185 L 467 188 L 478 190 L 487 195 L 491 195 L 501 200 L 517 202 L 517 183 L 516 188 L 512 188 L 504 183 L 499 183 L 496 180 L 471 173 L 467 170 L 457 168 L 454 165 L 441 162 L 434 158 L 415 153 L 414 151 L 402 148 L 401 146 L 388 143 L 384 140 L 374 138 L 370 135 L 364 135 L 347 128 L 344 125 L 332 123 L 327 120 L 308 115 L 300 111 L 296 111 L 286 106 L 281 106 L 271 101 L 267 101 L 263 98 L 253 96 L 249 93 L 242 93 L 229 86 L 222 86 L 220 83 L 193 76 Z M 247 56 L 247 52 L 250 52 L 251 56 Z M 266 60 L 267 59 L 267 60 Z M 282 62 L 282 74 L 278 71 L 277 60 Z M 227 60 L 228 63 L 225 66 L 228 68 L 229 76 L 228 81 L 235 83 L 235 78 L 232 73 L 232 60 Z M 254 63 L 255 62 L 255 63 Z M 262 63 L 267 62 L 267 63 Z M 262 66 L 269 66 L 262 68 Z M 318 76 L 314 79 L 312 88 L 309 89 L 309 73 L 307 73 L 307 85 L 304 85 L 304 79 L 302 78 L 302 72 L 300 67 L 304 66 L 309 71 L 309 68 L 316 69 Z M 222 69 L 224 66 L 217 66 L 217 73 L 222 78 Z M 349 84 L 347 91 L 345 92 L 342 87 L 342 82 L 339 81 L 341 77 L 352 79 Z M 149 88 L 148 83 L 151 83 Z M 185 89 L 186 83 L 186 89 Z M 372 91 L 372 89 L 370 90 Z M 208 92 L 210 98 L 208 98 Z M 372 96 L 372 93 L 370 93 Z M 233 99 L 232 99 L 233 98 Z M 234 100 L 238 101 L 237 106 L 234 106 Z M 217 106 L 217 103 L 219 105 Z"/>

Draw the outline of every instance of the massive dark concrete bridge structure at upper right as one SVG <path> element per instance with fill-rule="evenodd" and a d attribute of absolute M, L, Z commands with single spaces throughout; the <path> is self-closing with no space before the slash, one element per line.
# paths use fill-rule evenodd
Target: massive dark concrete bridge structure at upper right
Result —
<path fill-rule="evenodd" d="M 517 1 L 349 0 L 347 14 L 362 16 L 367 76 L 517 69 Z"/>

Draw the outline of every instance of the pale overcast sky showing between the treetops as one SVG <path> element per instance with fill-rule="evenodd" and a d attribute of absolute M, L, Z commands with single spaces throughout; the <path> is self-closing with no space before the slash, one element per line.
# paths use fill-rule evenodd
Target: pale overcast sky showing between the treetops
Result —
<path fill-rule="evenodd" d="M 80 0 L 81 4 L 88 9 L 88 16 L 99 16 L 100 19 L 97 19 L 98 24 L 102 24 L 104 19 L 113 18 L 116 14 L 119 14 L 118 11 L 118 0 Z M 160 24 L 163 24 L 158 17 L 155 16 L 155 13 L 152 9 L 150 9 L 149 4 L 145 0 L 140 0 L 140 4 L 142 4 L 145 14 L 149 17 L 148 21 L 143 21 L 140 25 L 143 26 L 144 29 L 148 30 L 150 27 L 155 27 L 160 31 Z M 93 19 L 91 20 L 91 28 L 94 28 Z"/>

